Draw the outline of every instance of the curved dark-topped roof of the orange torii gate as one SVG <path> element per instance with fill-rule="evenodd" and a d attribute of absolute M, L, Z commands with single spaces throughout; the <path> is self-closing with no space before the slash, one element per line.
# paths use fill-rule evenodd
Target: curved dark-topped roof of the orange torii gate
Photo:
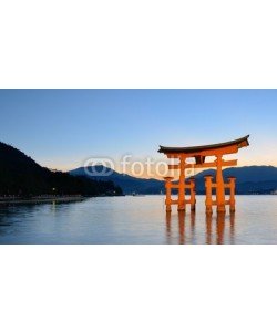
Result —
<path fill-rule="evenodd" d="M 166 147 L 160 146 L 160 153 L 166 155 L 174 155 L 174 154 L 185 154 L 189 156 L 197 156 L 197 155 L 209 155 L 208 153 L 216 153 L 217 151 L 224 151 L 226 148 L 226 153 L 236 153 L 239 148 L 248 146 L 249 142 L 248 138 L 250 135 L 245 137 L 229 141 L 219 144 L 211 144 L 211 145 L 203 145 L 203 146 L 188 146 L 188 147 Z"/>

